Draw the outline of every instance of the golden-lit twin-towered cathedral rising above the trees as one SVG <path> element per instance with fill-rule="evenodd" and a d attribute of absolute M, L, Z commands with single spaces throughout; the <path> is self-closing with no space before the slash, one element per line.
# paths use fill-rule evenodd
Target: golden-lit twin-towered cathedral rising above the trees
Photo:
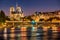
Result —
<path fill-rule="evenodd" d="M 10 7 L 10 19 L 11 20 L 20 20 L 20 18 L 24 17 L 23 11 L 20 6 L 16 6 L 16 10 L 13 6 Z"/>

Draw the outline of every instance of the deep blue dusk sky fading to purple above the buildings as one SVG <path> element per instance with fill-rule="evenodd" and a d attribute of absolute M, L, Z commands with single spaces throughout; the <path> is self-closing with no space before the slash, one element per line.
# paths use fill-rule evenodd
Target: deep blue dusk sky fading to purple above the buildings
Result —
<path fill-rule="evenodd" d="M 60 10 L 60 0 L 17 0 L 24 15 L 31 15 L 34 12 L 50 12 Z M 0 0 L 0 10 L 9 15 L 11 6 L 16 7 L 16 0 Z"/>

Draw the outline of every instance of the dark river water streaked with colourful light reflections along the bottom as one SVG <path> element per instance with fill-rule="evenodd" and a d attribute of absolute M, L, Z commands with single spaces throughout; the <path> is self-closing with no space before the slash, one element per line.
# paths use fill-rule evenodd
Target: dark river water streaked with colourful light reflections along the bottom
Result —
<path fill-rule="evenodd" d="M 60 27 L 5 28 L 0 30 L 0 40 L 60 40 Z"/>

